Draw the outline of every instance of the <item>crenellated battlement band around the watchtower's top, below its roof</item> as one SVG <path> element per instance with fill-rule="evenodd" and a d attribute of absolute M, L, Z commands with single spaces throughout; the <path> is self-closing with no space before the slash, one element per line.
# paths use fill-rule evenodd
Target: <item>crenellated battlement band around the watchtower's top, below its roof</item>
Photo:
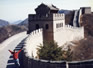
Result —
<path fill-rule="evenodd" d="M 29 21 L 37 21 L 37 20 L 63 20 L 65 19 L 65 14 L 53 13 L 43 15 L 29 14 Z"/>

